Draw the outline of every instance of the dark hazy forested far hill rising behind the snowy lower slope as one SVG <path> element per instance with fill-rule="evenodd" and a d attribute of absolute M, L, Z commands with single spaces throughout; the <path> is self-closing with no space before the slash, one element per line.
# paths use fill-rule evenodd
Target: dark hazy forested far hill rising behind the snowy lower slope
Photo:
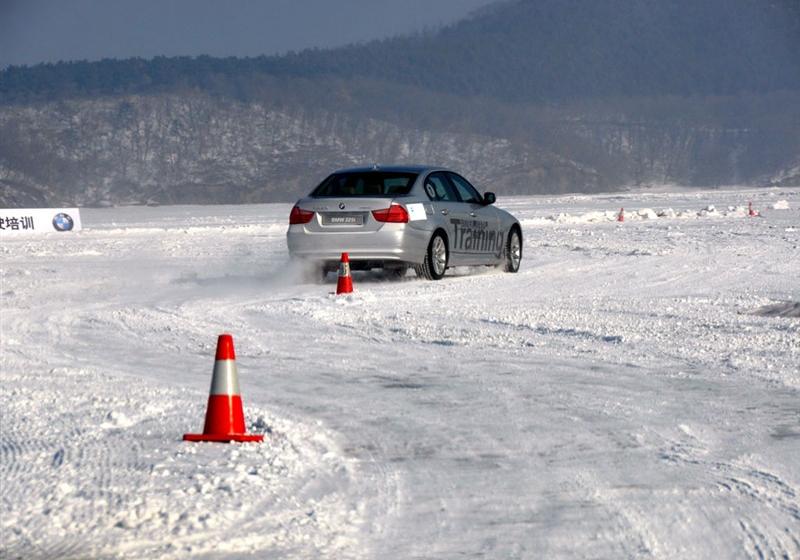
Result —
<path fill-rule="evenodd" d="M 187 86 L 246 97 L 260 75 L 370 77 L 525 103 L 737 95 L 800 90 L 799 52 L 797 0 L 516 0 L 438 32 L 280 57 L 12 67 L 0 100 Z"/>

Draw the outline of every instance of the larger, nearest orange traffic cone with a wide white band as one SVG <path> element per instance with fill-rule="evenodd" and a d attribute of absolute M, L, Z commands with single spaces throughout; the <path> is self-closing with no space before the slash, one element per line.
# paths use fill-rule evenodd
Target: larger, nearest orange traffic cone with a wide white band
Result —
<path fill-rule="evenodd" d="M 206 425 L 202 434 L 183 434 L 185 441 L 263 441 L 260 434 L 246 434 L 242 397 L 239 394 L 239 374 L 233 337 L 219 335 L 211 391 L 208 395 Z"/>

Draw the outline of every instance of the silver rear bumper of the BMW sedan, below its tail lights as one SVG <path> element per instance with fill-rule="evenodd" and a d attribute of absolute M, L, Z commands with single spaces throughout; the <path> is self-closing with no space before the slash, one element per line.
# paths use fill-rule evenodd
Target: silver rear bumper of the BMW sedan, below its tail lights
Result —
<path fill-rule="evenodd" d="M 392 223 L 370 232 L 313 232 L 295 224 L 286 232 L 292 257 L 318 262 L 338 261 L 346 252 L 351 261 L 421 264 L 429 238 L 428 231 Z"/>

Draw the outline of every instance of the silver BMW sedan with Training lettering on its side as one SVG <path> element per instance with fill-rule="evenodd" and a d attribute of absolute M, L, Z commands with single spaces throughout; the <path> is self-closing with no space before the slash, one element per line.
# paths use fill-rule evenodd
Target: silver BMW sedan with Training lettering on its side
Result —
<path fill-rule="evenodd" d="M 439 167 L 343 169 L 300 199 L 289 216 L 289 254 L 323 271 L 347 252 L 353 269 L 397 276 L 413 267 L 439 280 L 452 266 L 517 272 L 522 229 L 495 195 Z"/>

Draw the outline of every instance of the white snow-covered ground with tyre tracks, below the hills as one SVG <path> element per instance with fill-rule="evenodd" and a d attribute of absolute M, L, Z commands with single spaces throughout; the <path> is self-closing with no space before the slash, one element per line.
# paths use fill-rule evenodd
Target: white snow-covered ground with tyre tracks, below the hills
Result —
<path fill-rule="evenodd" d="M 289 205 L 4 238 L 0 558 L 800 557 L 800 189 L 499 205 L 519 274 L 341 298 Z M 181 441 L 222 332 L 263 445 Z"/>

